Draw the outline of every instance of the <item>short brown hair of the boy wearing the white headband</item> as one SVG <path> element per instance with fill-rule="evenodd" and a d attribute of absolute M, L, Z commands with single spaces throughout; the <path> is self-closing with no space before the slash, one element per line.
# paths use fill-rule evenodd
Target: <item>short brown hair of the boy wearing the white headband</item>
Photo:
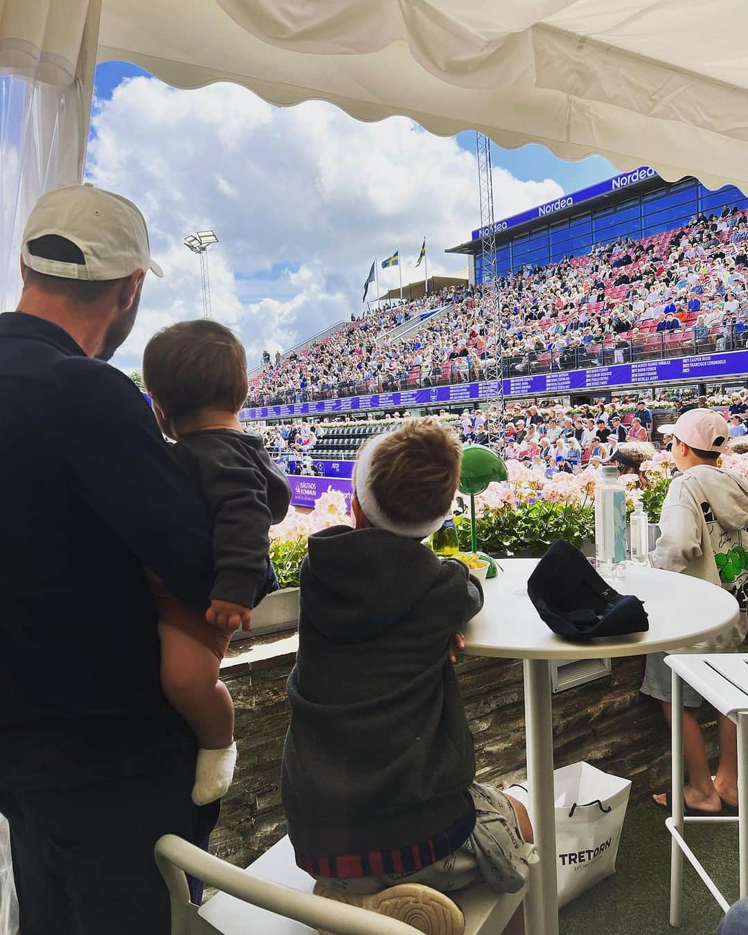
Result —
<path fill-rule="evenodd" d="M 381 439 L 368 482 L 381 511 L 418 525 L 449 513 L 461 463 L 462 447 L 452 428 L 433 416 L 409 419 Z"/>

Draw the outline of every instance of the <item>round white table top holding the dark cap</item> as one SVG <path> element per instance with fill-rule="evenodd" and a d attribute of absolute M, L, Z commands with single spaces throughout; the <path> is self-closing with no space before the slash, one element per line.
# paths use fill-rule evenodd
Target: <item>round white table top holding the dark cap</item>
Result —
<path fill-rule="evenodd" d="M 614 579 L 619 594 L 643 600 L 649 630 L 624 637 L 564 640 L 542 621 L 527 597 L 537 558 L 501 558 L 483 584 L 482 611 L 465 627 L 465 651 L 511 659 L 583 659 L 674 650 L 716 636 L 738 619 L 738 601 L 716 584 L 660 568 L 627 566 Z"/>

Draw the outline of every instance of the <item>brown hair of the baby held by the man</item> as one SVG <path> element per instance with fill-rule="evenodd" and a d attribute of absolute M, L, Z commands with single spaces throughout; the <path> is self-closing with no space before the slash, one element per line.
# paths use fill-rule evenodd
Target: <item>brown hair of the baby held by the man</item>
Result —
<path fill-rule="evenodd" d="M 223 324 L 179 322 L 146 345 L 143 382 L 172 421 L 207 407 L 237 412 L 247 398 L 247 355 Z"/>

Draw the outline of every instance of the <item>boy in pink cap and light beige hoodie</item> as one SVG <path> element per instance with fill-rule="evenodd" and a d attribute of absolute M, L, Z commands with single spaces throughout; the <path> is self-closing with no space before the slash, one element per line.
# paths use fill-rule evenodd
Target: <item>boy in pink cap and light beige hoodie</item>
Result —
<path fill-rule="evenodd" d="M 712 410 L 684 412 L 671 428 L 672 455 L 682 471 L 671 482 L 662 507 L 661 536 L 651 560 L 654 568 L 682 571 L 703 581 L 718 584 L 733 594 L 741 606 L 739 622 L 708 643 L 697 643 L 680 653 L 730 653 L 745 640 L 748 618 L 748 482 L 739 474 L 717 467 L 725 451 L 727 424 Z M 641 691 L 662 703 L 666 720 L 671 719 L 670 669 L 664 653 L 647 656 Z M 684 790 L 685 813 L 718 814 L 738 803 L 738 746 L 736 727 L 717 715 L 720 762 L 712 772 L 693 709 L 701 697 L 683 685 L 683 753 L 688 770 Z M 669 808 L 668 795 L 654 796 Z"/>

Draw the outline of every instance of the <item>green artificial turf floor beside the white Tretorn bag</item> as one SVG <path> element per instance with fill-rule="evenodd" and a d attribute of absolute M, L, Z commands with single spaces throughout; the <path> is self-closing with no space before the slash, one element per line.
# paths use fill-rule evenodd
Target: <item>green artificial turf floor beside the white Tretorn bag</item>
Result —
<path fill-rule="evenodd" d="M 713 935 L 722 912 L 687 860 L 683 924 L 669 926 L 666 817 L 654 803 L 629 806 L 616 872 L 561 910 L 560 935 Z M 686 826 L 685 839 L 726 899 L 738 899 L 737 824 Z"/>

